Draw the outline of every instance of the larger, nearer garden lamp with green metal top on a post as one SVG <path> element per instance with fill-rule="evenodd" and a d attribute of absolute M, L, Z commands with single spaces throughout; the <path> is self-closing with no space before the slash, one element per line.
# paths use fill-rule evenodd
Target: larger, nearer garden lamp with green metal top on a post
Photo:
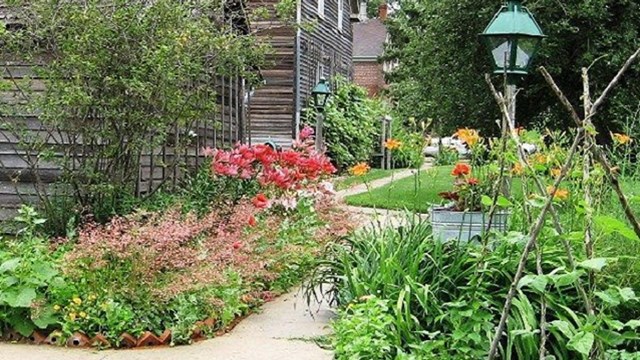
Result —
<path fill-rule="evenodd" d="M 529 73 L 529 67 L 545 37 L 522 1 L 509 0 L 480 34 L 493 60 L 493 73 L 507 77 L 506 98 L 509 117 L 515 124 L 516 82 Z M 507 131 L 503 122 L 503 131 Z"/>

